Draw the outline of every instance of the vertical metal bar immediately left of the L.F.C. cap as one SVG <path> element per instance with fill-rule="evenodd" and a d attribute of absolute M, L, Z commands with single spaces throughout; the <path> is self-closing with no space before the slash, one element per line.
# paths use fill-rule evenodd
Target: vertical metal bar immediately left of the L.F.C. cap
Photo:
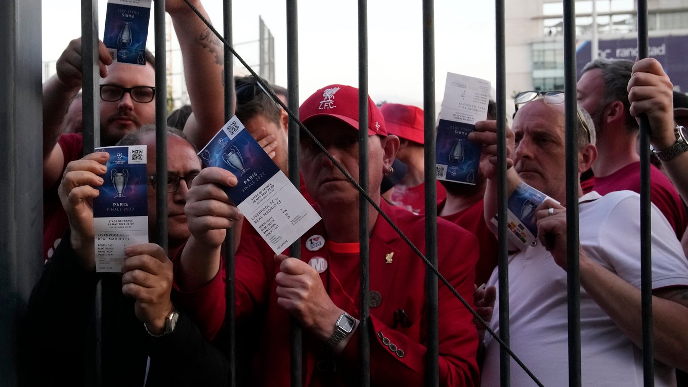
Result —
<path fill-rule="evenodd" d="M 288 107 L 299 117 L 299 12 L 298 1 L 287 0 L 287 89 Z M 299 167 L 299 124 L 289 121 L 289 180 L 294 187 L 301 186 Z M 301 259 L 301 239 L 289 247 L 289 254 Z M 289 348 L 291 353 L 291 386 L 303 386 L 303 332 L 301 324 L 290 319 Z"/>

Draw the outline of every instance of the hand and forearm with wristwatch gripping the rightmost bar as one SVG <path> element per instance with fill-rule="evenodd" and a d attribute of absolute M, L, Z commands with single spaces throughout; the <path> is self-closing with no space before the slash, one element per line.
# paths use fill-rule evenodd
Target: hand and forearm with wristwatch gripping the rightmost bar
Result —
<path fill-rule="evenodd" d="M 674 86 L 656 59 L 648 58 L 633 65 L 633 74 L 628 83 L 630 112 L 638 117 L 647 114 L 650 124 L 650 143 L 663 151 L 676 143 L 674 133 Z M 663 160 L 671 182 L 674 183 L 683 200 L 688 200 L 688 152 Z"/>

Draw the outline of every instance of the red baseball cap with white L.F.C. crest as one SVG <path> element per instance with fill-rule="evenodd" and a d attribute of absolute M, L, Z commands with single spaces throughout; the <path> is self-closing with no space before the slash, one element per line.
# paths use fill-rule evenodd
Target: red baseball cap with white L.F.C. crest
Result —
<path fill-rule="evenodd" d="M 315 117 L 330 116 L 358 130 L 358 89 L 346 85 L 329 85 L 314 92 L 299 107 L 299 118 L 305 125 Z M 385 118 L 368 96 L 368 134 L 387 136 Z"/>

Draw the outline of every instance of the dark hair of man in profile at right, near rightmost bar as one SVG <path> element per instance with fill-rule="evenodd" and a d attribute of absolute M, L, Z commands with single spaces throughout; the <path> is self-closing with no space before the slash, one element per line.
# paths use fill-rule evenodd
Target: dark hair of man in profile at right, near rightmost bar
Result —
<path fill-rule="evenodd" d="M 583 67 L 581 74 L 594 69 L 601 70 L 605 90 L 602 101 L 600 101 L 596 108 L 596 112 L 590 112 L 590 114 L 596 115 L 598 111 L 604 109 L 610 103 L 621 101 L 626 114 L 626 127 L 630 133 L 637 133 L 639 130 L 638 122 L 631 115 L 631 103 L 628 101 L 627 90 L 628 82 L 631 80 L 633 61 L 627 59 L 595 59 Z"/>

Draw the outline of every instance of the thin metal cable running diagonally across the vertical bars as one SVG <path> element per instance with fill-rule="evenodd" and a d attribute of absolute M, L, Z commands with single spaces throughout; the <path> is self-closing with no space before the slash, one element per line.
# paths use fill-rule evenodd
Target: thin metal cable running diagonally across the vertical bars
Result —
<path fill-rule="evenodd" d="M 396 224 L 394 224 L 394 222 L 391 220 L 391 218 L 389 218 L 389 216 L 387 216 L 387 214 L 380 208 L 380 206 L 377 205 L 376 202 L 374 202 L 374 200 L 367 194 L 367 192 L 365 192 L 365 189 L 363 189 L 363 187 L 361 187 L 361 185 L 358 185 L 358 182 L 356 182 L 356 180 L 354 180 L 354 178 L 352 178 L 352 176 L 337 162 L 337 160 L 334 159 L 334 157 L 330 154 L 330 152 L 328 152 L 327 149 L 325 149 L 325 147 L 323 147 L 323 145 L 320 143 L 320 141 L 310 132 L 310 130 L 308 130 L 308 128 L 305 127 L 305 125 L 303 125 L 303 123 L 301 123 L 299 118 L 297 118 L 297 116 L 295 116 L 294 113 L 290 109 L 288 109 L 288 107 L 279 98 L 277 98 L 275 93 L 272 92 L 272 90 L 270 90 L 269 85 L 266 85 L 266 83 L 263 82 L 263 80 L 260 78 L 260 76 L 258 76 L 258 74 L 250 67 L 250 65 L 248 65 L 248 63 L 246 63 L 246 61 L 244 61 L 244 59 L 242 59 L 241 56 L 239 56 L 239 54 L 234 50 L 234 48 L 225 39 L 222 38 L 222 36 L 219 34 L 219 32 L 217 32 L 217 30 L 215 30 L 215 28 L 213 28 L 213 25 L 211 25 L 211 23 L 209 23 L 208 20 L 203 17 L 203 15 L 193 6 L 193 4 L 191 4 L 189 2 L 189 0 L 184 0 L 184 3 L 186 3 L 189 6 L 189 8 L 191 8 L 191 10 L 193 10 L 193 12 L 195 12 L 195 14 L 197 14 L 197 16 L 208 26 L 208 28 L 213 32 L 213 34 L 215 34 L 215 36 L 217 36 L 217 39 L 222 41 L 225 48 L 230 50 L 230 52 L 232 52 L 232 54 L 239 60 L 239 62 L 241 62 L 241 64 L 244 65 L 244 67 L 246 67 L 246 70 L 248 70 L 248 72 L 250 72 L 250 74 L 256 79 L 257 83 L 259 83 L 259 85 L 261 85 L 263 87 L 264 92 L 266 92 L 266 94 L 268 94 L 268 96 L 270 96 L 270 98 L 272 98 L 272 101 L 277 103 L 277 105 L 281 106 L 285 110 L 285 112 L 290 116 L 290 118 L 295 123 L 298 123 L 299 128 L 301 130 L 303 130 L 303 132 L 305 134 L 308 134 L 308 136 L 313 140 L 316 147 L 318 147 L 318 149 L 320 149 L 320 151 L 322 151 L 323 154 L 325 154 L 325 156 L 327 156 L 327 158 L 329 158 L 330 161 L 332 161 L 332 164 L 339 171 L 341 171 L 341 173 L 344 175 L 344 177 L 349 182 L 351 182 L 352 185 L 354 185 L 354 187 L 358 190 L 358 192 L 361 193 L 361 195 L 365 196 L 365 199 L 367 200 L 367 202 L 369 202 L 370 205 L 372 205 L 373 208 L 380 214 L 380 216 L 382 216 L 385 219 L 385 221 L 387 221 L 387 223 L 392 227 L 392 229 L 394 229 L 394 231 L 396 231 L 396 233 L 398 233 L 398 235 L 404 240 L 404 242 L 406 242 L 406 244 L 408 244 L 409 247 L 411 247 L 413 252 L 416 253 L 416 255 L 418 255 L 418 257 L 420 257 L 420 259 L 424 262 L 424 264 L 429 269 L 431 269 L 431 271 L 437 276 L 437 278 L 440 281 L 442 281 L 444 286 L 447 286 L 447 288 L 449 288 L 451 290 L 451 293 L 453 293 L 453 295 L 455 295 L 455 297 L 464 305 L 464 307 L 466 307 L 466 309 L 473 315 L 473 317 L 477 320 L 477 322 L 479 322 L 485 328 L 485 330 L 488 333 L 490 333 L 490 335 L 499 343 L 500 346 L 502 346 L 502 348 L 505 348 L 506 352 L 510 355 L 510 357 L 512 357 L 514 359 L 514 361 L 524 370 L 524 372 L 526 372 L 526 374 L 528 374 L 528 376 L 531 379 L 533 379 L 533 381 L 535 381 L 535 383 L 538 386 L 543 386 L 543 384 L 541 384 L 541 382 L 537 379 L 537 377 L 535 377 L 535 375 L 533 375 L 533 373 L 530 372 L 528 367 L 526 367 L 526 365 L 521 361 L 521 359 L 519 359 L 515 355 L 515 353 L 513 353 L 513 351 L 511 351 L 511 349 L 508 348 L 508 346 L 506 346 L 506 344 L 504 344 L 502 339 L 500 339 L 499 336 L 497 336 L 497 334 L 488 326 L 488 324 L 484 320 L 482 320 L 482 317 L 480 317 L 480 315 L 478 315 L 477 312 L 475 312 L 475 310 L 473 310 L 471 305 L 469 305 L 469 303 L 466 302 L 464 297 L 462 297 L 462 295 L 460 295 L 458 293 L 458 291 L 456 291 L 456 289 L 454 289 L 454 287 L 451 286 L 449 281 L 446 278 L 444 278 L 444 275 L 442 275 L 440 273 L 440 271 L 438 271 L 438 269 L 431 262 L 429 262 L 429 260 L 418 249 L 418 247 L 416 247 L 416 245 L 413 244 L 413 242 L 411 242 L 411 240 L 409 240 L 409 238 L 405 235 L 405 233 L 403 233 L 403 231 L 401 231 L 401 229 L 399 229 L 399 227 L 397 227 Z"/>

